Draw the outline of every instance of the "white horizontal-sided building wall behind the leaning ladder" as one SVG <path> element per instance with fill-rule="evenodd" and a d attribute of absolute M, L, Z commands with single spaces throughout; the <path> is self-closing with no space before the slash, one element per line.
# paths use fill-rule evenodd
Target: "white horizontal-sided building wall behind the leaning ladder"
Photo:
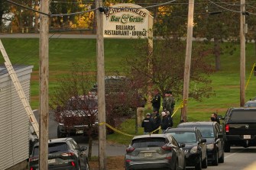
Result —
<path fill-rule="evenodd" d="M 0 169 L 7 169 L 28 159 L 29 120 L 15 85 L 8 72 L 0 66 Z M 32 66 L 14 66 L 15 72 L 30 101 Z"/>

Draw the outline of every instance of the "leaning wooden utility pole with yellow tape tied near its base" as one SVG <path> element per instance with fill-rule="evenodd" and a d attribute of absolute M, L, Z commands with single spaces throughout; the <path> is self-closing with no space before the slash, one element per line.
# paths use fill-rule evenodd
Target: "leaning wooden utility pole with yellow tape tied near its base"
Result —
<path fill-rule="evenodd" d="M 186 35 L 186 59 L 184 67 L 184 82 L 183 82 L 183 108 L 181 119 L 186 122 L 187 100 L 189 98 L 190 89 L 190 63 L 192 53 L 192 38 L 193 38 L 193 18 L 194 18 L 194 0 L 189 2 L 189 12 L 187 21 L 187 35 Z"/>

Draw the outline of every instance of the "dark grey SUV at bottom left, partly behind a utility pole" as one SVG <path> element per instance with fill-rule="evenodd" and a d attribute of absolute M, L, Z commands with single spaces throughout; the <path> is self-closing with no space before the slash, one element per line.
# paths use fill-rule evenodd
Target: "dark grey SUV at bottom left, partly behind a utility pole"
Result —
<path fill-rule="evenodd" d="M 48 141 L 48 169 L 89 170 L 86 147 L 82 148 L 73 138 L 59 138 Z M 35 143 L 29 158 L 29 169 L 39 169 L 39 143 Z"/>

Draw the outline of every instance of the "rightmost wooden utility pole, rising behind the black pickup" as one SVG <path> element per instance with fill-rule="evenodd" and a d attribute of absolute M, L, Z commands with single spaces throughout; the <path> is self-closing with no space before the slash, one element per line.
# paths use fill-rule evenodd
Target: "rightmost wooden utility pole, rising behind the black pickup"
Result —
<path fill-rule="evenodd" d="M 240 106 L 245 105 L 245 0 L 241 0 L 240 14 Z"/>

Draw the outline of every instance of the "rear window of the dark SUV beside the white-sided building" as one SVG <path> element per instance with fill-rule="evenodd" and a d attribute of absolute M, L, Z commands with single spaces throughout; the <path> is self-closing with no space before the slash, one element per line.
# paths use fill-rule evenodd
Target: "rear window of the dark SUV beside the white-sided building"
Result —
<path fill-rule="evenodd" d="M 48 144 L 48 153 L 65 152 L 66 150 L 67 150 L 66 143 L 49 143 Z M 33 155 L 38 156 L 38 153 L 39 153 L 39 147 L 35 146 Z"/>

